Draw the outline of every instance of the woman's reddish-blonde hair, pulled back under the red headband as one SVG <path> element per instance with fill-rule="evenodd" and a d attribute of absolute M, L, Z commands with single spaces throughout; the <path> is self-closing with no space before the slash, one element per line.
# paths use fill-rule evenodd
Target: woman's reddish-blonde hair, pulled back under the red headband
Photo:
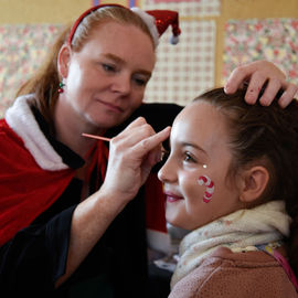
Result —
<path fill-rule="evenodd" d="M 72 38 L 72 50 L 74 52 L 79 52 L 96 28 L 107 22 L 132 24 L 139 28 L 150 38 L 152 41 L 152 47 L 155 49 L 152 35 L 139 15 L 120 6 L 104 6 L 98 10 L 91 12 L 82 20 Z M 62 45 L 68 40 L 71 29 L 71 25 L 65 28 L 65 30 L 56 39 L 56 42 L 54 43 L 52 51 L 49 53 L 44 65 L 36 72 L 34 76 L 32 76 L 23 86 L 21 86 L 17 93 L 17 96 L 23 94 L 35 95 L 35 103 L 33 103 L 33 105 L 41 111 L 45 120 L 50 124 L 52 130 L 54 129 L 53 113 L 58 98 L 57 91 L 61 82 L 57 70 L 57 57 Z"/>

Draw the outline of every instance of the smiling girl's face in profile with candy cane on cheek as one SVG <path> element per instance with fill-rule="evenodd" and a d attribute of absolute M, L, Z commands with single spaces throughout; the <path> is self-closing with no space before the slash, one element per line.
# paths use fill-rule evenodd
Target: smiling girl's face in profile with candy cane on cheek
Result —
<path fill-rule="evenodd" d="M 169 223 L 194 230 L 243 207 L 236 183 L 226 179 L 232 160 L 228 141 L 224 116 L 212 105 L 192 103 L 178 115 L 170 137 L 171 152 L 159 171 Z M 209 203 L 203 201 L 206 187 L 198 182 L 201 175 L 214 183 Z"/>

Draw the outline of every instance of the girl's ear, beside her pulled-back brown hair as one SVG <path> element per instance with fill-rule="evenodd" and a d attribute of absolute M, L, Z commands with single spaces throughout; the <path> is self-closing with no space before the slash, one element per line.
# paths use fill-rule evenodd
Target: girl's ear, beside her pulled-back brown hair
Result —
<path fill-rule="evenodd" d="M 262 166 L 244 171 L 241 178 L 240 200 L 251 203 L 257 200 L 265 191 L 269 181 L 269 172 Z"/>

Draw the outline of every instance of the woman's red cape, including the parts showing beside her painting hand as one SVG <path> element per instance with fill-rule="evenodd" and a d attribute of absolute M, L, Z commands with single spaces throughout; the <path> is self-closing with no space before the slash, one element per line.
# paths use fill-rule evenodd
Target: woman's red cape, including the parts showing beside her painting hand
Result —
<path fill-rule="evenodd" d="M 50 171 L 42 169 L 25 148 L 23 140 L 0 120 L 0 246 L 18 231 L 51 206 L 65 191 L 75 174 L 74 169 Z M 103 142 L 98 142 L 103 143 Z M 103 147 L 97 147 L 102 151 Z M 105 147 L 104 155 L 108 156 Z M 99 152 L 98 152 L 99 153 Z M 100 155 L 93 167 L 105 167 Z M 105 166 L 105 164 L 104 164 Z M 18 182 L 17 182 L 18 181 Z M 164 194 L 156 174 L 146 183 L 147 227 L 166 232 Z"/>

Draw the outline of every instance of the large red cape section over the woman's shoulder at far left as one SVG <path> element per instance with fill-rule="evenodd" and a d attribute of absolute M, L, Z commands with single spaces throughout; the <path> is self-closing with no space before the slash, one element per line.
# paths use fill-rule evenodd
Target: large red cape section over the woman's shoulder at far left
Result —
<path fill-rule="evenodd" d="M 74 177 L 73 169 L 41 169 L 22 139 L 0 120 L 0 245 L 60 198 Z M 17 182 L 18 181 L 18 182 Z"/>

